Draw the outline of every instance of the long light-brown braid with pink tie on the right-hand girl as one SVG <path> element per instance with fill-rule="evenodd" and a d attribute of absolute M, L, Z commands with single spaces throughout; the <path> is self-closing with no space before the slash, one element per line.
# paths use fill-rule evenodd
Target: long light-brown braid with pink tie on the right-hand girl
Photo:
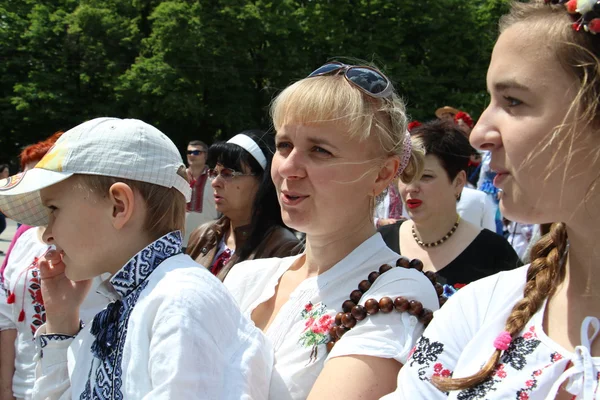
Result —
<path fill-rule="evenodd" d="M 552 225 L 531 250 L 533 261 L 527 270 L 527 283 L 523 298 L 514 305 L 506 320 L 505 330 L 514 338 L 531 317 L 538 312 L 544 300 L 551 297 L 563 281 L 565 269 L 562 257 L 567 248 L 567 230 L 564 223 Z M 502 351 L 496 350 L 489 361 L 474 375 L 466 378 L 433 377 L 432 383 L 440 390 L 463 390 L 476 386 L 494 372 Z"/>

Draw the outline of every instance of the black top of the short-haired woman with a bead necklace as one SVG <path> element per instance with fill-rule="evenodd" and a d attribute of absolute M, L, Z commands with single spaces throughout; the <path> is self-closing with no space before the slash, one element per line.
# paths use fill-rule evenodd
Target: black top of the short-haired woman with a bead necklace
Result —
<path fill-rule="evenodd" d="M 400 249 L 400 225 L 404 221 L 385 225 L 378 229 L 387 246 L 398 254 Z M 454 260 L 437 272 L 441 284 L 467 284 L 500 271 L 522 266 L 519 256 L 502 236 L 483 229 L 477 237 Z"/>

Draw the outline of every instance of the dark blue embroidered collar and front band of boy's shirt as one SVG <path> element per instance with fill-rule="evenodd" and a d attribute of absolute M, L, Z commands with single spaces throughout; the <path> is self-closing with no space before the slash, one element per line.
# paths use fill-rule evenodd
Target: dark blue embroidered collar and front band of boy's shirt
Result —
<path fill-rule="evenodd" d="M 170 232 L 136 254 L 110 279 L 122 299 L 109 304 L 94 317 L 94 361 L 81 400 L 123 399 L 121 363 L 129 316 L 148 284 L 146 279 L 150 274 L 167 258 L 180 253 L 181 232 Z"/>

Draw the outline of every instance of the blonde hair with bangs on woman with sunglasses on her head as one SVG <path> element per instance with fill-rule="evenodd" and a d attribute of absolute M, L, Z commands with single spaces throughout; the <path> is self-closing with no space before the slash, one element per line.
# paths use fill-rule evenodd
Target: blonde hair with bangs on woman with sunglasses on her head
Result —
<path fill-rule="evenodd" d="M 276 131 L 290 123 L 339 121 L 351 138 L 377 138 L 386 156 L 402 154 L 408 124 L 404 103 L 395 93 L 386 99 L 371 97 L 343 75 L 305 78 L 288 86 L 273 100 L 271 117 Z M 403 182 L 420 177 L 423 157 L 420 149 L 413 149 L 400 175 Z"/>

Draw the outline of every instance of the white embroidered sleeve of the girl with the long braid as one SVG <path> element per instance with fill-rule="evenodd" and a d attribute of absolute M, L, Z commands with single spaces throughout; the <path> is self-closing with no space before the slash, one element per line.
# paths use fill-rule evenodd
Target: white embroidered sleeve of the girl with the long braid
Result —
<path fill-rule="evenodd" d="M 398 388 L 383 399 L 446 399 L 430 382 L 434 374 L 450 376 L 463 349 L 485 319 L 499 275 L 471 283 L 434 313 L 414 353 L 400 370 Z"/>

